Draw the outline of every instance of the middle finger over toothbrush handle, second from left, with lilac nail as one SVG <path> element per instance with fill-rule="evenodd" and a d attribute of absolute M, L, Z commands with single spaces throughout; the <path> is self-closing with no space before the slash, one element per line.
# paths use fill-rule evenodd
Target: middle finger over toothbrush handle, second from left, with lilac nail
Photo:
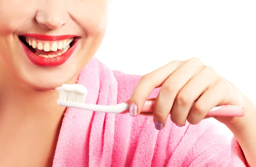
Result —
<path fill-rule="evenodd" d="M 177 93 L 203 67 L 204 64 L 198 59 L 187 60 L 163 83 L 153 106 L 156 129 L 164 127 Z"/>

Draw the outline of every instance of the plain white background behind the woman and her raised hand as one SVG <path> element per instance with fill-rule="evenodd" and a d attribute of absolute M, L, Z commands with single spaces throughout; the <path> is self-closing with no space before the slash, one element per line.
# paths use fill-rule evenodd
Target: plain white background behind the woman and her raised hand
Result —
<path fill-rule="evenodd" d="M 111 69 L 140 75 L 198 57 L 254 103 L 255 56 L 255 0 L 112 0 L 96 54 Z"/>

